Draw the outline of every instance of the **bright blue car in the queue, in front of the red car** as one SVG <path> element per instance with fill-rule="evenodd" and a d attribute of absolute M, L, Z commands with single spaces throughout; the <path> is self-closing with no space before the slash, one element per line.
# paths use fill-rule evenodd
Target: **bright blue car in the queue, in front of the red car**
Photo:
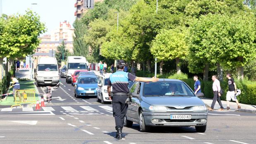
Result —
<path fill-rule="evenodd" d="M 84 75 L 77 78 L 74 83 L 74 96 L 76 98 L 84 96 L 97 96 L 98 78 L 96 75 Z"/>

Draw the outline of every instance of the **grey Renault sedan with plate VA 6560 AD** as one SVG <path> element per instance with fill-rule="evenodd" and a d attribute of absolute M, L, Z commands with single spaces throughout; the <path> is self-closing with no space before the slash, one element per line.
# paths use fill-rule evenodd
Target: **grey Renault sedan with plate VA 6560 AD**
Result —
<path fill-rule="evenodd" d="M 133 98 L 124 118 L 125 126 L 139 123 L 141 132 L 152 126 L 195 126 L 197 132 L 206 131 L 206 106 L 183 81 L 135 82 L 130 92 Z"/>

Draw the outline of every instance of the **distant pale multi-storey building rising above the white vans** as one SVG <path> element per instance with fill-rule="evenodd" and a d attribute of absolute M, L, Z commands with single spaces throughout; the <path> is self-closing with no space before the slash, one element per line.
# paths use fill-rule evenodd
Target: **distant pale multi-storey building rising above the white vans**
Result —
<path fill-rule="evenodd" d="M 60 22 L 59 28 L 51 32 L 50 35 L 43 35 L 41 43 L 36 50 L 36 53 L 49 53 L 57 50 L 57 47 L 64 41 L 66 49 L 70 53 L 73 52 L 73 36 L 74 29 L 69 22 Z"/>

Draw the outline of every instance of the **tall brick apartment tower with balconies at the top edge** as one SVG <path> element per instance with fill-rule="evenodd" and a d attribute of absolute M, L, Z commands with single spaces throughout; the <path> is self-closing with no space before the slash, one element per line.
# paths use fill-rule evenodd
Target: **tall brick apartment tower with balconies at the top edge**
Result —
<path fill-rule="evenodd" d="M 103 0 L 94 0 L 95 2 L 102 2 Z M 84 8 L 84 3 L 86 0 L 76 0 L 76 3 L 74 7 L 76 8 L 76 11 L 74 13 L 74 16 L 77 17 L 77 19 L 80 19 L 84 13 L 87 12 L 88 9 Z"/>

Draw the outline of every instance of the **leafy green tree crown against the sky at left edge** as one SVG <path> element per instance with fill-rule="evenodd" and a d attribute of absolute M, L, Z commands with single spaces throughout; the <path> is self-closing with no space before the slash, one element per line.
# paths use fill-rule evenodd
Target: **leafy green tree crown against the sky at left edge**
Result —
<path fill-rule="evenodd" d="M 0 18 L 0 57 L 25 57 L 38 47 L 45 32 L 40 17 L 32 11 Z"/>

